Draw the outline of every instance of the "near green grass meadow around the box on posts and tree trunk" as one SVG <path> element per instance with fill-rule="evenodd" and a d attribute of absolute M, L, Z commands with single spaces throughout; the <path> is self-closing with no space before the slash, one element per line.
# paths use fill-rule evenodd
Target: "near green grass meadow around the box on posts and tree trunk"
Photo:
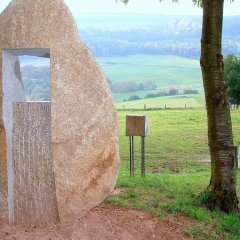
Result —
<path fill-rule="evenodd" d="M 106 200 L 129 208 L 150 212 L 160 220 L 185 216 L 190 227 L 182 226 L 194 239 L 240 239 L 240 215 L 210 212 L 203 207 L 199 193 L 207 187 L 210 164 L 199 163 L 209 157 L 206 113 L 204 110 L 137 111 L 150 118 L 146 138 L 146 178 L 140 177 L 140 141 L 135 141 L 135 177 L 129 177 L 128 138 L 125 116 L 119 111 L 121 170 L 118 188 L 125 191 Z M 235 142 L 240 143 L 240 110 L 232 111 Z M 238 182 L 240 171 L 238 171 Z M 237 185 L 240 195 L 240 186 Z M 177 221 L 177 220 L 176 220 Z"/>

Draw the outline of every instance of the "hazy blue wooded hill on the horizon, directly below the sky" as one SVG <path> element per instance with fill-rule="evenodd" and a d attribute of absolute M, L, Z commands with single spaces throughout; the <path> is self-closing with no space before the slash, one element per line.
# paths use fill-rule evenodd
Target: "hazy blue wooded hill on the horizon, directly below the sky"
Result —
<path fill-rule="evenodd" d="M 74 14 L 95 56 L 166 54 L 200 56 L 200 16 Z M 223 53 L 240 53 L 240 16 L 224 18 Z"/>

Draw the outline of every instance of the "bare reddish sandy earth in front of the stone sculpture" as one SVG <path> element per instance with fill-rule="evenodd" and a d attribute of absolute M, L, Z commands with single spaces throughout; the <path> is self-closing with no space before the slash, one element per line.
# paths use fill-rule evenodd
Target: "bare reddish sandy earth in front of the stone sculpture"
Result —
<path fill-rule="evenodd" d="M 159 222 L 149 214 L 101 205 L 82 219 L 45 227 L 0 223 L 1 240 L 152 240 L 190 239 L 181 232 L 184 220 Z"/>

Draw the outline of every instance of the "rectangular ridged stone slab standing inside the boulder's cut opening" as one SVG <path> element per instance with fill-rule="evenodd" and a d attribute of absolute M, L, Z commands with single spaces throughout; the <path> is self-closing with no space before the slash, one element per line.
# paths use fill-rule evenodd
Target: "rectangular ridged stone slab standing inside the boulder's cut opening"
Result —
<path fill-rule="evenodd" d="M 58 221 L 50 102 L 13 103 L 14 223 Z"/>

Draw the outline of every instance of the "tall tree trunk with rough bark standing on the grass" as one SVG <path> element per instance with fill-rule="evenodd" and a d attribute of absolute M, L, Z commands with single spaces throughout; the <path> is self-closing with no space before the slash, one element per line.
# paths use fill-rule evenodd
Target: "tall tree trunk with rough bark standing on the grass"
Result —
<path fill-rule="evenodd" d="M 201 68 L 208 115 L 211 181 L 208 206 L 232 212 L 238 209 L 236 166 L 227 87 L 222 56 L 224 0 L 203 0 Z"/>

